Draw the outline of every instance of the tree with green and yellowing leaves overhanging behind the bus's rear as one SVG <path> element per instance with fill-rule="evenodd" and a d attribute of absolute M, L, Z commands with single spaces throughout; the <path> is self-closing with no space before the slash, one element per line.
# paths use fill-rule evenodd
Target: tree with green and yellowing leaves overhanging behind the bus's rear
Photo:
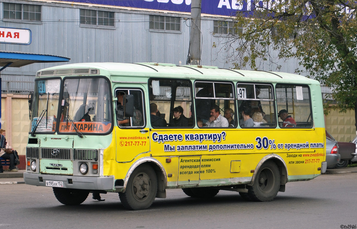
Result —
<path fill-rule="evenodd" d="M 225 43 L 235 47 L 235 68 L 258 69 L 262 62 L 272 62 L 279 69 L 280 60 L 296 59 L 300 68 L 295 72 L 332 87 L 335 107 L 341 112 L 354 109 L 357 120 L 355 1 L 262 0 L 238 4 L 246 9 L 235 15 L 233 29 L 243 25 L 243 30 Z"/>

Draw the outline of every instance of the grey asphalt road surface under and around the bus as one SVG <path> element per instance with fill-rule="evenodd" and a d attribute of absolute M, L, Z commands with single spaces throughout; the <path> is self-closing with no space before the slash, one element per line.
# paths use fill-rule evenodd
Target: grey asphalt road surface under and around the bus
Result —
<path fill-rule="evenodd" d="M 91 195 L 91 194 L 90 194 Z M 357 173 L 324 174 L 291 182 L 272 202 L 249 202 L 220 191 L 212 199 L 167 190 L 151 208 L 128 211 L 116 193 L 89 196 L 79 206 L 59 203 L 51 188 L 1 185 L 0 229 L 5 228 L 343 228 L 357 225 Z M 356 226 L 355 226 L 356 227 Z"/>

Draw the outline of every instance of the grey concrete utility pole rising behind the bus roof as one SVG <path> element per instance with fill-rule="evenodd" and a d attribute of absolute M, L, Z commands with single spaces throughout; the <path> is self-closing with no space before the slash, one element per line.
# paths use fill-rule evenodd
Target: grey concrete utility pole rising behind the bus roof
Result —
<path fill-rule="evenodd" d="M 191 1 L 190 57 L 192 65 L 201 65 L 201 0 Z"/>

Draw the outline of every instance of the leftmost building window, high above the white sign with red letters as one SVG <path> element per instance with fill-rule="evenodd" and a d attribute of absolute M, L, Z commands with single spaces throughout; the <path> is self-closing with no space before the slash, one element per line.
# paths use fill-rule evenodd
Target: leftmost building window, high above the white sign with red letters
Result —
<path fill-rule="evenodd" d="M 41 6 L 4 2 L 4 19 L 41 21 Z"/>

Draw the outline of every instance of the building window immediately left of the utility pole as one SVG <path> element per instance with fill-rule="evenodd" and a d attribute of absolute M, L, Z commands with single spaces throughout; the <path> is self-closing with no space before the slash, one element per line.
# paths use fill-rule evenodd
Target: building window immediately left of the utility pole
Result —
<path fill-rule="evenodd" d="M 181 18 L 150 15 L 150 29 L 181 31 Z"/>

